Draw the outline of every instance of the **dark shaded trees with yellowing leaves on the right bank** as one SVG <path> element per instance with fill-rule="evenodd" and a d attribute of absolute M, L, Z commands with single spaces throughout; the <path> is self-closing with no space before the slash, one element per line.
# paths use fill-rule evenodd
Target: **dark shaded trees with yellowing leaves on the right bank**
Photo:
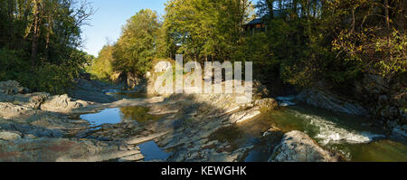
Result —
<path fill-rule="evenodd" d="M 301 87 L 320 81 L 346 87 L 364 73 L 391 81 L 405 76 L 407 68 L 405 4 L 404 0 L 260 1 L 259 13 L 268 31 L 248 37 L 248 60 L 256 70 L 269 71 L 272 80 Z"/>

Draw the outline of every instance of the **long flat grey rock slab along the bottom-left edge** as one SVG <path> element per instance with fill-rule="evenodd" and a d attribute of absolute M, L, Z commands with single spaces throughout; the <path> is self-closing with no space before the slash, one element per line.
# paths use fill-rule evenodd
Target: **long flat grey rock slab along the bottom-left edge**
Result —
<path fill-rule="evenodd" d="M 137 149 L 119 149 L 96 140 L 67 138 L 0 141 L 2 162 L 100 162 L 140 154 Z"/>

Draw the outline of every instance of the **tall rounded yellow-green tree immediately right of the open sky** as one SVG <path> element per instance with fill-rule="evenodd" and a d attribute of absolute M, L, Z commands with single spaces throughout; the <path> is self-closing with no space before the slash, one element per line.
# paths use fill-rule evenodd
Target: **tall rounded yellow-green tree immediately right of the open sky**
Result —
<path fill-rule="evenodd" d="M 144 75 L 156 56 L 159 28 L 156 12 L 146 9 L 132 16 L 114 45 L 114 70 Z"/>

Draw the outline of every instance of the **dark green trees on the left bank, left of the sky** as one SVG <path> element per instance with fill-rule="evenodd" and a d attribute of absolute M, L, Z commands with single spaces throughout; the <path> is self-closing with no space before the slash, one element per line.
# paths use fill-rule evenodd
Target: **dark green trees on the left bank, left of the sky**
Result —
<path fill-rule="evenodd" d="M 0 81 L 62 93 L 92 57 L 80 52 L 91 7 L 73 0 L 0 1 Z"/>

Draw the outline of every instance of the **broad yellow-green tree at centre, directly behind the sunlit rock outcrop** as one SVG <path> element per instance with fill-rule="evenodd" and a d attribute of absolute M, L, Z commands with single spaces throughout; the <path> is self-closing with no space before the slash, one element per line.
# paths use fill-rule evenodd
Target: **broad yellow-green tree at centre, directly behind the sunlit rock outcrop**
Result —
<path fill-rule="evenodd" d="M 232 61 L 251 10 L 247 0 L 168 1 L 164 21 L 168 52 L 195 61 Z"/>

